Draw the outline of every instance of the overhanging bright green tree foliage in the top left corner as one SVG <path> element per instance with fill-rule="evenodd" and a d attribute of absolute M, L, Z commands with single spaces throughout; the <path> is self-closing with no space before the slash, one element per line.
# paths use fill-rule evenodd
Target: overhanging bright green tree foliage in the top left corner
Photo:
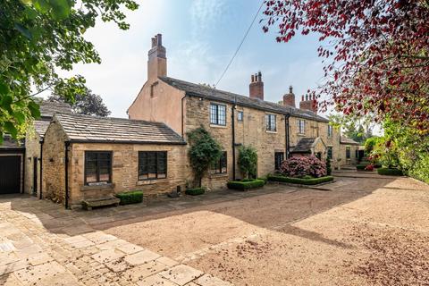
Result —
<path fill-rule="evenodd" d="M 22 137 L 40 116 L 34 97 L 61 89 L 73 98 L 85 93 L 81 76 L 62 78 L 75 63 L 100 63 L 84 38 L 97 18 L 128 29 L 123 9 L 136 10 L 133 0 L 3 0 L 0 2 L 0 140 L 5 132 Z"/>

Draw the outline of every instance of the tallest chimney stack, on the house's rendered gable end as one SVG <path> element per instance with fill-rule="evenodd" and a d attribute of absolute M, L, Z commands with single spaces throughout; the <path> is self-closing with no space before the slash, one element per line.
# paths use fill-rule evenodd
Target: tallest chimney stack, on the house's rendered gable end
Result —
<path fill-rule="evenodd" d="M 167 75 L 167 57 L 163 46 L 163 35 L 152 38 L 152 48 L 147 53 L 147 81 L 156 81 Z"/>

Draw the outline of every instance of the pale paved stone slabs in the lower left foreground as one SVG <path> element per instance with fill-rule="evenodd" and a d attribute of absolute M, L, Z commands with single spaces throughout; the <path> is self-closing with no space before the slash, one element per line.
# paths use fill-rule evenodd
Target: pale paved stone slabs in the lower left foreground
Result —
<path fill-rule="evenodd" d="M 36 198 L 0 198 L 0 285 L 231 285 L 96 231 L 84 217 L 103 221 Z"/>

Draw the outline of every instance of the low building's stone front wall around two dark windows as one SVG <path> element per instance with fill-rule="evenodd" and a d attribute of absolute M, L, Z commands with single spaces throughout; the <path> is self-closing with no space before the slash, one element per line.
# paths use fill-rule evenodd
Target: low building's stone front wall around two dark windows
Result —
<path fill-rule="evenodd" d="M 112 184 L 108 186 L 85 186 L 85 151 L 112 151 Z M 139 181 L 139 151 L 167 151 L 167 177 Z M 180 145 L 73 143 L 70 154 L 70 203 L 80 206 L 84 198 L 100 198 L 122 191 L 143 190 L 145 196 L 171 192 L 177 186 L 185 190 L 186 147 Z"/>

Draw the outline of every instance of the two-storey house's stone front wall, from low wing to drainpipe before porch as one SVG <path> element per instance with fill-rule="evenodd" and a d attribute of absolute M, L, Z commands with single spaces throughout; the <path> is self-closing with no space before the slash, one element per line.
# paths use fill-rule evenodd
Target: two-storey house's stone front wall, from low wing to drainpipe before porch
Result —
<path fill-rule="evenodd" d="M 226 126 L 210 124 L 210 103 L 226 105 Z M 227 152 L 227 173 L 226 174 L 207 174 L 203 179 L 203 185 L 209 189 L 224 188 L 228 180 L 233 179 L 232 172 L 232 124 L 231 114 L 232 105 L 222 102 L 211 101 L 207 99 L 199 100 L 198 97 L 186 97 L 186 122 L 185 130 L 190 131 L 203 125 L 214 139 L 216 139 Z M 243 122 L 237 119 L 238 111 L 243 112 Z M 274 152 L 285 152 L 285 121 L 284 115 L 276 114 L 277 131 L 271 132 L 265 130 L 264 111 L 254 108 L 237 106 L 234 113 L 235 122 L 235 143 L 236 143 L 236 162 L 239 157 L 239 147 L 253 146 L 257 149 L 257 176 L 264 176 L 269 172 L 274 172 Z M 240 170 L 236 165 L 237 178 L 242 178 Z M 192 171 L 188 163 L 188 178 L 192 180 Z"/>

